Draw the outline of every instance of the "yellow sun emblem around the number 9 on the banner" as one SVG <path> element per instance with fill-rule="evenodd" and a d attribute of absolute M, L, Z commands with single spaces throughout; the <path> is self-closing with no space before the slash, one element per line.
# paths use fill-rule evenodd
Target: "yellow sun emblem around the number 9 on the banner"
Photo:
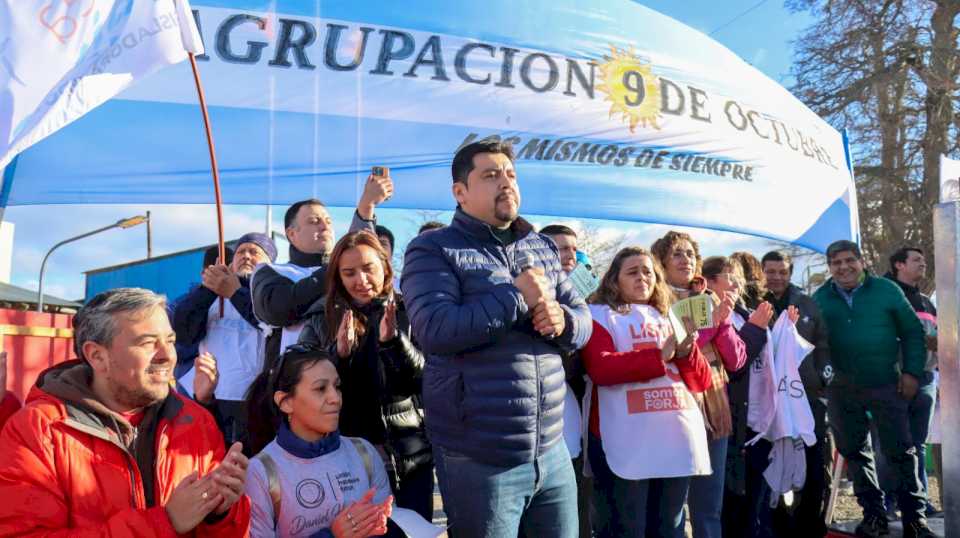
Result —
<path fill-rule="evenodd" d="M 599 90 L 610 101 L 610 117 L 619 114 L 630 132 L 642 127 L 659 130 L 660 77 L 653 74 L 651 65 L 641 60 L 633 47 L 620 50 L 610 46 L 610 56 L 600 64 Z"/>

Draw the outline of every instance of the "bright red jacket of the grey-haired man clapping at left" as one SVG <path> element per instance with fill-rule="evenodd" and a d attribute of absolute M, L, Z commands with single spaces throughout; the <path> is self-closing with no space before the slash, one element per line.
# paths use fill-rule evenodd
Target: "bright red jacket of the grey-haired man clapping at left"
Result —
<path fill-rule="evenodd" d="M 136 460 L 121 441 L 134 430 L 92 397 L 89 381 L 81 381 L 89 375 L 80 361 L 47 370 L 0 434 L 0 536 L 177 536 L 163 506 L 181 480 L 207 474 L 223 458 L 213 417 L 171 390 L 153 421 L 156 502 L 148 507 Z M 249 527 L 243 496 L 226 517 L 187 536 L 243 537 Z"/>

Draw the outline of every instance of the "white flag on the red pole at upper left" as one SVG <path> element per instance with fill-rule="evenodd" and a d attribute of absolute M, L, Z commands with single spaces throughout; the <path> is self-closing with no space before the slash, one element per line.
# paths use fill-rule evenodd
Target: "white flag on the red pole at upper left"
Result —
<path fill-rule="evenodd" d="M 187 0 L 0 0 L 0 170 L 187 51 Z"/>

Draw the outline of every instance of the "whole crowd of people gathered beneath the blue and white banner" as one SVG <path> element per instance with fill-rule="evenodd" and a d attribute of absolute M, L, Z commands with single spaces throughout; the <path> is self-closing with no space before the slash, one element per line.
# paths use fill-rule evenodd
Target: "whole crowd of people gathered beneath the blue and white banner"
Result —
<path fill-rule="evenodd" d="M 835 443 L 859 536 L 897 509 L 933 536 L 921 250 L 881 277 L 837 241 L 811 297 L 784 252 L 703 259 L 670 231 L 587 293 L 576 232 L 519 216 L 509 145 L 460 148 L 452 180 L 452 222 L 399 275 L 374 215 L 393 184 L 371 175 L 339 241 L 303 200 L 288 263 L 248 233 L 170 304 L 91 298 L 77 358 L 3 400 L 0 535 L 403 536 L 436 476 L 455 538 L 810 538 Z"/>

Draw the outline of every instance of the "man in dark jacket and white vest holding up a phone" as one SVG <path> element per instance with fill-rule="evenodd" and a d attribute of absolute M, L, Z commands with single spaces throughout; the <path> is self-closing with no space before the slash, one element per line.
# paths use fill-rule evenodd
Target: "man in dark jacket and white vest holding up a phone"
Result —
<path fill-rule="evenodd" d="M 374 209 L 392 194 L 390 176 L 369 175 L 350 231 L 367 230 L 376 235 Z M 279 329 L 267 343 L 268 368 L 281 350 L 297 343 L 307 310 L 324 295 L 327 261 L 334 246 L 333 220 L 316 198 L 291 205 L 283 223 L 290 241 L 290 262 L 258 267 L 250 277 L 254 314 Z"/>

